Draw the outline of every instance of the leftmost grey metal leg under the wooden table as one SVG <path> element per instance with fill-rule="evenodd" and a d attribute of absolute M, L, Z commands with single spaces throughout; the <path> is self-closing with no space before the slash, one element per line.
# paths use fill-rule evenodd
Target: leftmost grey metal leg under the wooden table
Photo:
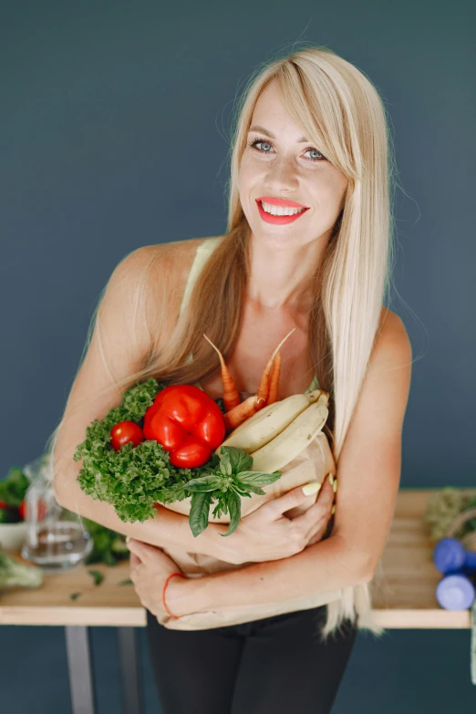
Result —
<path fill-rule="evenodd" d="M 94 714 L 96 701 L 87 626 L 65 626 L 73 714 Z"/>

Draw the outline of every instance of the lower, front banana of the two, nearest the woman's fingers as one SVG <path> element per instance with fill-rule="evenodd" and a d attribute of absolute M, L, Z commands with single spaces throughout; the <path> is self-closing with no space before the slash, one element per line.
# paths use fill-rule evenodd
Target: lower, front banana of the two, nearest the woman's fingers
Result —
<path fill-rule="evenodd" d="M 273 473 L 295 459 L 316 438 L 326 424 L 328 415 L 326 393 L 310 404 L 280 434 L 261 449 L 251 452 L 253 471 Z"/>

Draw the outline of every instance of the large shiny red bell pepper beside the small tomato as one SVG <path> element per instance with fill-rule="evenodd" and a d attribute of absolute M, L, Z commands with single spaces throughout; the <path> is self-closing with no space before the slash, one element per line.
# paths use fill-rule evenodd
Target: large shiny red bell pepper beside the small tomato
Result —
<path fill-rule="evenodd" d="M 222 410 L 202 389 L 191 384 L 162 389 L 144 415 L 144 437 L 169 451 L 181 469 L 202 466 L 224 440 Z"/>

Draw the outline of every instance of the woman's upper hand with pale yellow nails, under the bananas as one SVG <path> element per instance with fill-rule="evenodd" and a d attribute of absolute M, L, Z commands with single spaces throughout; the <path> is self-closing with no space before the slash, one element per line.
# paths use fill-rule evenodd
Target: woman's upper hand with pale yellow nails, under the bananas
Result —
<path fill-rule="evenodd" d="M 288 558 L 300 553 L 307 545 L 320 541 L 326 533 L 334 502 L 334 489 L 327 476 L 316 503 L 305 513 L 295 518 L 283 515 L 314 498 L 314 495 L 305 496 L 302 486 L 298 486 L 243 516 L 236 531 L 230 536 L 238 536 L 236 563 Z"/>

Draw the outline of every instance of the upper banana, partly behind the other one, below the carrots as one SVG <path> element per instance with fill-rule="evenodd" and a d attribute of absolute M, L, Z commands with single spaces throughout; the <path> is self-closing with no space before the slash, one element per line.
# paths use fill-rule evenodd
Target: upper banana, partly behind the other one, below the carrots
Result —
<path fill-rule="evenodd" d="M 215 452 L 220 453 L 222 446 L 235 446 L 248 453 L 261 449 L 289 426 L 310 404 L 317 401 L 322 393 L 320 389 L 315 389 L 308 394 L 293 394 L 291 397 L 269 404 L 233 429 L 228 439 L 223 441 Z"/>

